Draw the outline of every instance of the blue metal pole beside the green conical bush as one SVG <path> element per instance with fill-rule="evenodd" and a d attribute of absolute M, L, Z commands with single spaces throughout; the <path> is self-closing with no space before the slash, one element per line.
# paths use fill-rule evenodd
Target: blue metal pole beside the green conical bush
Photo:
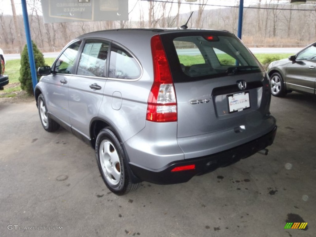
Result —
<path fill-rule="evenodd" d="M 32 83 L 33 83 L 33 90 L 34 90 L 37 84 L 37 75 L 36 75 L 35 60 L 34 60 L 34 54 L 33 54 L 33 45 L 32 45 L 32 39 L 31 39 L 30 25 L 28 23 L 26 0 L 21 0 L 21 3 L 22 3 L 22 11 L 23 11 L 24 28 L 25 28 L 25 34 L 26 34 L 28 59 L 30 61 L 30 69 L 31 69 Z"/>

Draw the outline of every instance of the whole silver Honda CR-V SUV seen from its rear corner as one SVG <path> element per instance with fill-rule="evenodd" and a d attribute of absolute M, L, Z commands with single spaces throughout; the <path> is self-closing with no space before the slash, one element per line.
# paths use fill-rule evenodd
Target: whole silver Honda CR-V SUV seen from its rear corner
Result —
<path fill-rule="evenodd" d="M 186 182 L 258 151 L 276 134 L 269 78 L 232 33 L 124 29 L 84 34 L 35 88 L 46 131 L 95 147 L 106 186 Z"/>

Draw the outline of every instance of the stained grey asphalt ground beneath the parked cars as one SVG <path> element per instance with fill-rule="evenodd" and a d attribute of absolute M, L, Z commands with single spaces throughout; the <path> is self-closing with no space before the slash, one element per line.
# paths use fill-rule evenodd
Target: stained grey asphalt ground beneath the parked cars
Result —
<path fill-rule="evenodd" d="M 313 96 L 272 98 L 278 131 L 268 156 L 184 184 L 143 182 L 125 196 L 104 185 L 94 149 L 62 128 L 44 131 L 35 101 L 8 100 L 0 102 L 2 237 L 315 236 Z M 308 224 L 284 229 L 286 222 Z"/>

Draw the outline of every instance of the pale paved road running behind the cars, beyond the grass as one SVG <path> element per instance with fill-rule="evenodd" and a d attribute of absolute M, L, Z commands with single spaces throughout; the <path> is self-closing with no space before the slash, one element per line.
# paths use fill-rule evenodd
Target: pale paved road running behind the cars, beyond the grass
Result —
<path fill-rule="evenodd" d="M 252 53 L 297 53 L 302 48 L 250 48 Z M 59 52 L 43 53 L 44 58 L 56 58 L 59 55 Z M 191 54 L 195 55 L 198 52 L 195 49 L 181 49 L 179 54 Z M 20 59 L 20 54 L 4 54 L 6 60 L 11 59 Z"/>

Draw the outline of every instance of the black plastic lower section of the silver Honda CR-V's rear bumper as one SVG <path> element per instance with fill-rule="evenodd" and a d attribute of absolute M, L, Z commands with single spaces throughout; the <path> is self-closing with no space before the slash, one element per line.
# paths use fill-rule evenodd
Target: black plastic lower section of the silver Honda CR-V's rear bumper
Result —
<path fill-rule="evenodd" d="M 201 175 L 216 170 L 219 167 L 225 167 L 233 164 L 240 159 L 247 158 L 259 150 L 270 146 L 275 138 L 277 126 L 272 131 L 259 137 L 251 142 L 240 146 L 218 152 L 212 155 L 206 155 L 198 158 L 173 161 L 159 170 L 151 170 L 139 167 L 130 163 L 132 173 L 143 181 L 155 184 L 177 184 L 189 181 L 195 175 Z M 171 172 L 178 166 L 195 165 L 194 170 L 186 170 L 181 172 Z"/>

